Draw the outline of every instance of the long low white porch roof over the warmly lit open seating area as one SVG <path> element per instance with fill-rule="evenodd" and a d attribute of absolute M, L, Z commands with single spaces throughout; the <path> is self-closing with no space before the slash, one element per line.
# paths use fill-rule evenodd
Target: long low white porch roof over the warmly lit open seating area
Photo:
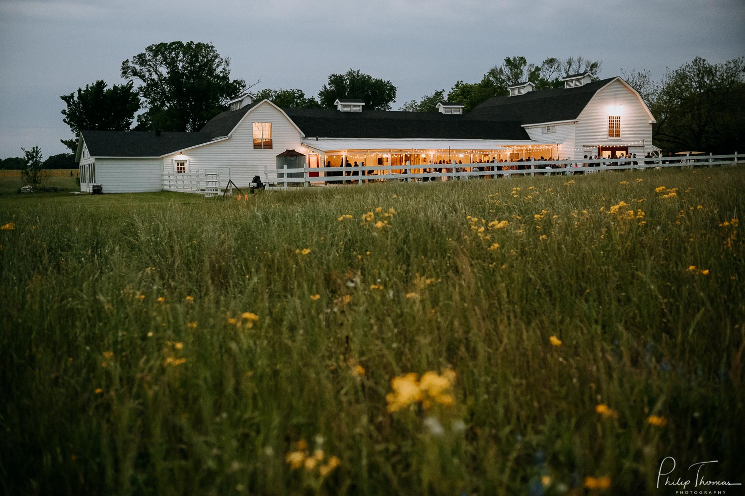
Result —
<path fill-rule="evenodd" d="M 507 150 L 510 146 L 539 144 L 522 140 L 443 140 L 443 139 L 396 139 L 396 138 L 304 138 L 302 145 L 316 152 L 346 152 L 350 150 Z"/>

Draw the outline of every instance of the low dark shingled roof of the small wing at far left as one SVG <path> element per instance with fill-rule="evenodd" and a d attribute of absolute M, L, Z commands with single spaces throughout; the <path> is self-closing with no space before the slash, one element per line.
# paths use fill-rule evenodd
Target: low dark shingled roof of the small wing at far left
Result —
<path fill-rule="evenodd" d="M 204 132 L 82 131 L 92 157 L 159 157 L 190 146 L 207 143 Z"/>

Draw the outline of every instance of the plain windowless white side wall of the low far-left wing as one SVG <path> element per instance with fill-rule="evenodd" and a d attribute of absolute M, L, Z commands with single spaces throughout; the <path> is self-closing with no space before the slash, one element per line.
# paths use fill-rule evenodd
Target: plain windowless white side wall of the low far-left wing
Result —
<path fill-rule="evenodd" d="M 160 191 L 162 167 L 160 158 L 96 158 L 95 181 L 104 194 Z"/>

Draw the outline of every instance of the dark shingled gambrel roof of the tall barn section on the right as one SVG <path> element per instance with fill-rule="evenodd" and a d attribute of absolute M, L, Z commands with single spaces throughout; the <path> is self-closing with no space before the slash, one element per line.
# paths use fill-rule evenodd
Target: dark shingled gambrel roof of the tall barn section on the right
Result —
<path fill-rule="evenodd" d="M 468 120 L 517 121 L 521 124 L 555 122 L 576 119 L 597 90 L 615 80 L 587 83 L 579 88 L 554 88 L 529 91 L 515 97 L 492 97 L 471 112 Z"/>

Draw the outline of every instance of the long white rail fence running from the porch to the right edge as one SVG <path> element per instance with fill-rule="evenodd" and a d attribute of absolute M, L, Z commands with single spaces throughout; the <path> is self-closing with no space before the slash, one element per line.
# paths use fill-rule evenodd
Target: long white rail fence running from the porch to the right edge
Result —
<path fill-rule="evenodd" d="M 741 162 L 741 161 L 740 161 Z M 592 174 L 606 170 L 662 169 L 663 167 L 711 167 L 714 165 L 737 165 L 738 153 L 732 155 L 686 155 L 653 158 L 603 158 L 599 160 L 558 160 L 499 162 L 484 164 L 422 164 L 422 165 L 378 165 L 365 167 L 300 167 L 276 170 L 276 186 L 286 188 L 303 184 L 345 184 L 374 181 L 451 181 L 469 178 L 497 178 L 500 176 L 524 175 L 572 175 Z M 520 168 L 523 167 L 523 168 Z M 550 169 L 548 168 L 550 167 Z M 516 170 L 513 170 L 516 168 Z M 469 170 L 466 170 L 469 169 Z M 410 170 L 422 170 L 411 173 Z M 440 170 L 440 172 L 436 172 Z M 394 171 L 402 171 L 394 172 Z M 273 171 L 271 171 L 273 172 Z M 311 177 L 310 173 L 318 173 Z M 335 175 L 329 175 L 335 174 Z M 270 171 L 264 178 L 272 183 Z M 338 175 L 337 175 L 338 174 Z M 348 175 L 349 174 L 349 175 Z M 299 175 L 299 177 L 290 177 Z"/>

